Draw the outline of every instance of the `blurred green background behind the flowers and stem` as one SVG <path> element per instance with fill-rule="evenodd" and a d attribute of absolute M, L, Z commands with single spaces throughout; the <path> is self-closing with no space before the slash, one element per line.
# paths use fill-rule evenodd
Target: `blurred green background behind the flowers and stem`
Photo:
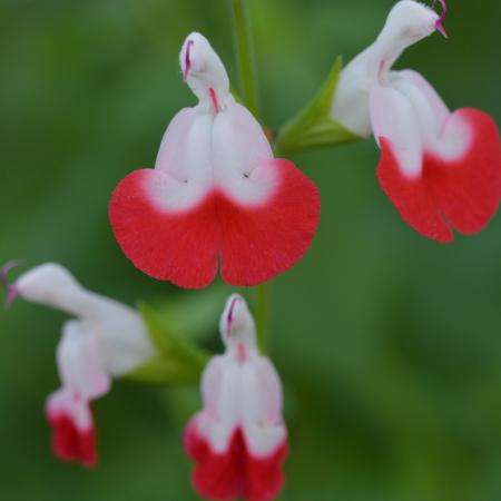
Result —
<path fill-rule="evenodd" d="M 393 2 L 250 3 L 263 111 L 277 127 L 337 55 L 375 38 Z M 450 39 L 433 36 L 397 66 L 423 72 L 451 108 L 499 122 L 500 21 L 498 0 L 451 1 Z M 210 39 L 236 82 L 228 1 L 0 0 L 0 262 L 60 262 L 127 303 L 185 294 L 125 259 L 107 204 L 195 102 L 177 62 L 189 31 Z M 323 215 L 307 256 L 273 284 L 292 441 L 281 499 L 499 501 L 501 216 L 452 245 L 426 240 L 382 194 L 377 159 L 372 140 L 293 158 Z M 63 320 L 22 302 L 0 312 L 0 498 L 197 499 L 179 391 L 117 382 L 96 405 L 99 468 L 52 458 L 42 407 Z"/>

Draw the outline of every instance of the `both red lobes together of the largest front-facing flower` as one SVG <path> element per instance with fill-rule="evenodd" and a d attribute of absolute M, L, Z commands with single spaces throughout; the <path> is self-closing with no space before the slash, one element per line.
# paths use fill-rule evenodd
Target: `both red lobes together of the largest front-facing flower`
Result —
<path fill-rule="evenodd" d="M 271 193 L 244 204 L 220 188 L 207 190 L 193 207 L 160 208 L 148 186 L 166 174 L 141 169 L 116 188 L 109 208 L 115 236 L 144 273 L 186 288 L 213 282 L 220 262 L 225 282 L 255 286 L 291 268 L 308 249 L 321 212 L 316 186 L 292 163 L 268 159 Z"/>

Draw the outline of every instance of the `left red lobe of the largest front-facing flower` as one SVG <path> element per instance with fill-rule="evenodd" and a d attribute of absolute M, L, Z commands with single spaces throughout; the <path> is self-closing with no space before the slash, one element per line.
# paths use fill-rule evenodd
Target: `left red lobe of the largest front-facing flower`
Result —
<path fill-rule="evenodd" d="M 125 255 L 147 275 L 180 287 L 205 287 L 217 272 L 214 199 L 209 195 L 188 210 L 161 210 L 145 186 L 163 176 L 158 170 L 141 169 L 119 183 L 109 206 L 115 237 Z"/>

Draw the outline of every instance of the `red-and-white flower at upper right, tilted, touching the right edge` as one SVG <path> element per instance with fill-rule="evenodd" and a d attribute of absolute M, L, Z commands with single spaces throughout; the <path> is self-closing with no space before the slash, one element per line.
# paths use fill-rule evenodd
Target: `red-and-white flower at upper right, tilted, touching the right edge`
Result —
<path fill-rule="evenodd" d="M 452 228 L 473 234 L 494 215 L 501 197 L 498 127 L 487 114 L 449 111 L 413 70 L 392 70 L 411 45 L 434 31 L 445 35 L 429 7 L 402 0 L 375 42 L 341 75 L 332 117 L 381 147 L 377 178 L 402 217 L 422 235 L 453 239 Z"/>

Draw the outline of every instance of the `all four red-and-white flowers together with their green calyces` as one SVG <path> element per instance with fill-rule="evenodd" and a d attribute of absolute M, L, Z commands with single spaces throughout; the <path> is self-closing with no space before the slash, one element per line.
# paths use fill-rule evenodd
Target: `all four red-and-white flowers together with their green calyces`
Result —
<path fill-rule="evenodd" d="M 418 1 L 399 1 L 376 40 L 344 69 L 335 67 L 274 146 L 286 151 L 373 136 L 384 193 L 410 226 L 444 243 L 453 239 L 452 228 L 480 232 L 497 212 L 501 146 L 489 115 L 451 112 L 420 73 L 392 69 L 411 45 L 435 31 L 445 36 L 441 4 L 439 16 Z M 134 265 L 157 279 L 203 288 L 220 262 L 227 284 L 263 284 L 307 252 L 320 220 L 318 189 L 289 160 L 274 158 L 204 36 L 186 38 L 179 62 L 198 104 L 173 118 L 155 168 L 118 184 L 109 205 L 112 230 Z M 57 348 L 61 387 L 46 405 L 61 459 L 96 464 L 91 402 L 109 392 L 114 377 L 145 367 L 164 381 L 168 373 L 169 382 L 189 370 L 200 375 L 195 366 L 208 356 L 174 334 L 159 340 L 145 315 L 86 291 L 63 267 L 46 264 L 10 285 L 11 267 L 0 276 L 9 304 L 19 296 L 73 317 Z M 257 347 L 242 296 L 229 296 L 219 327 L 225 352 L 205 365 L 202 411 L 185 432 L 193 484 L 212 500 L 271 501 L 288 454 L 282 384 Z"/>

